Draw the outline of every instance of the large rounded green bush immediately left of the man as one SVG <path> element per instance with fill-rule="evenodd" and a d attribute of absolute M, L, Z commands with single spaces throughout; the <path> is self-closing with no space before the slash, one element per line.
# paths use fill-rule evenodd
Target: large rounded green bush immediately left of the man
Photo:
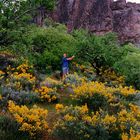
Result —
<path fill-rule="evenodd" d="M 53 70 L 60 69 L 63 53 L 73 55 L 76 40 L 67 33 L 65 26 L 36 28 L 33 37 L 35 65 L 38 69 L 45 70 L 51 66 Z"/>

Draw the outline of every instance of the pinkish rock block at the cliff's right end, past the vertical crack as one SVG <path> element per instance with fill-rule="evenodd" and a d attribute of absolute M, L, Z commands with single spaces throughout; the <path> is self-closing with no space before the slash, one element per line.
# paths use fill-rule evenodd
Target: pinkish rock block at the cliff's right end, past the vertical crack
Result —
<path fill-rule="evenodd" d="M 120 5 L 112 6 L 113 31 L 118 33 L 121 42 L 140 44 L 140 4 L 120 1 Z"/>

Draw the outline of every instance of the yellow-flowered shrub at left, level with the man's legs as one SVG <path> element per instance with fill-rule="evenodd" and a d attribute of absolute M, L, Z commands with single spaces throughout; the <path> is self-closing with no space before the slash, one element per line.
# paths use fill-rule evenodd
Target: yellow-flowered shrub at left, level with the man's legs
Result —
<path fill-rule="evenodd" d="M 16 90 L 35 88 L 36 77 L 32 74 L 32 66 L 28 63 L 21 64 L 14 68 L 10 65 L 7 67 L 8 77 L 6 79 L 6 85 Z"/>

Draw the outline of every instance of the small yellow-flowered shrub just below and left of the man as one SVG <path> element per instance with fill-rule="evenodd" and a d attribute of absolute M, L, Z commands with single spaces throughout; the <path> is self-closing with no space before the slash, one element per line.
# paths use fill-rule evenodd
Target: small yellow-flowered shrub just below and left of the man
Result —
<path fill-rule="evenodd" d="M 53 102 L 58 99 L 56 90 L 52 88 L 48 88 L 46 86 L 42 86 L 39 89 L 35 89 L 36 93 L 39 93 L 39 96 L 42 101 Z"/>

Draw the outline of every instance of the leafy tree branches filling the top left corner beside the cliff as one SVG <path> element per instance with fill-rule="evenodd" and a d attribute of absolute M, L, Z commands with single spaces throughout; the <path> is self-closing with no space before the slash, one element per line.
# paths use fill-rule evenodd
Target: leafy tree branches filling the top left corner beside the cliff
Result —
<path fill-rule="evenodd" d="M 54 8 L 54 5 L 55 0 L 2 0 L 0 2 L 0 17 L 2 17 L 2 21 L 5 21 L 4 25 L 7 25 L 11 21 L 18 22 L 27 16 L 32 17 L 38 14 L 44 16 L 45 12 Z"/>

